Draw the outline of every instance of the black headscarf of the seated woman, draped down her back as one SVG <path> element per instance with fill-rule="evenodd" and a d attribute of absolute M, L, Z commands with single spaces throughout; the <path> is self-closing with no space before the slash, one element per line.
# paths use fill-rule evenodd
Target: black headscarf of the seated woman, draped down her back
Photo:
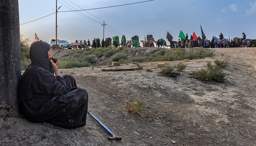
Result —
<path fill-rule="evenodd" d="M 23 99 L 30 99 L 32 97 L 31 83 L 34 75 L 34 70 L 37 66 L 54 74 L 50 58 L 48 57 L 48 51 L 50 45 L 42 40 L 33 42 L 30 45 L 29 55 L 31 63 L 27 66 L 23 74 L 21 75 L 20 84 L 18 86 L 18 103 Z"/>

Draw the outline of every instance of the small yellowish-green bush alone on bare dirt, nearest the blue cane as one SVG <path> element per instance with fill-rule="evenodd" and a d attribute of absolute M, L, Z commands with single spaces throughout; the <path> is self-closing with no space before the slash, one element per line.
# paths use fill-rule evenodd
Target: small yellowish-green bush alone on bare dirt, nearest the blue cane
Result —
<path fill-rule="evenodd" d="M 145 103 L 141 99 L 137 98 L 134 102 L 126 101 L 125 108 L 128 109 L 130 114 L 142 112 L 145 109 Z"/>

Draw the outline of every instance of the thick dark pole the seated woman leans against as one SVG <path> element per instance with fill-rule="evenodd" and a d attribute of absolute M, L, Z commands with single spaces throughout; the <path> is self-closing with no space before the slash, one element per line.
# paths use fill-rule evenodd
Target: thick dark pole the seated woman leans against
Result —
<path fill-rule="evenodd" d="M 18 0 L 0 0 L 0 104 L 18 109 L 21 78 Z"/>

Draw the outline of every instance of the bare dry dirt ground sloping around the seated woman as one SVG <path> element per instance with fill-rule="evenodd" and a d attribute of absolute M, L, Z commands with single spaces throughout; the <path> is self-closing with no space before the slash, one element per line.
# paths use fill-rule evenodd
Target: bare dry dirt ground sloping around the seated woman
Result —
<path fill-rule="evenodd" d="M 209 50 L 213 51 L 213 57 L 190 60 L 176 78 L 159 75 L 157 64 L 165 62 L 142 63 L 143 70 L 135 71 L 101 71 L 110 68 L 107 65 L 60 69 L 61 75 L 74 76 L 78 87 L 88 91 L 88 109 L 112 133 L 122 136 L 122 140 L 108 140 L 110 134 L 90 115 L 82 128 L 57 130 L 32 123 L 1 104 L 0 145 L 256 145 L 256 48 Z M 146 52 L 149 49 L 136 48 L 128 53 Z M 224 83 L 190 77 L 193 70 L 215 59 L 228 62 Z M 109 64 L 111 60 L 106 62 Z M 181 61 L 167 63 L 178 62 Z M 136 65 L 129 63 L 113 68 L 132 67 Z M 141 114 L 131 115 L 124 105 L 135 98 L 145 101 L 146 108 Z"/>

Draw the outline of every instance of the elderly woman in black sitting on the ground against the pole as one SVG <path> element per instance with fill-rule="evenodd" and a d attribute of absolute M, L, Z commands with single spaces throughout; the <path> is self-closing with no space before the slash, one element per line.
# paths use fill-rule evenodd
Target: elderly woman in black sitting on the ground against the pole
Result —
<path fill-rule="evenodd" d="M 76 86 L 74 77 L 60 76 L 59 60 L 53 58 L 47 42 L 33 42 L 29 56 L 31 64 L 22 74 L 18 87 L 20 111 L 28 120 L 42 122 L 52 128 L 85 126 L 87 91 Z"/>

